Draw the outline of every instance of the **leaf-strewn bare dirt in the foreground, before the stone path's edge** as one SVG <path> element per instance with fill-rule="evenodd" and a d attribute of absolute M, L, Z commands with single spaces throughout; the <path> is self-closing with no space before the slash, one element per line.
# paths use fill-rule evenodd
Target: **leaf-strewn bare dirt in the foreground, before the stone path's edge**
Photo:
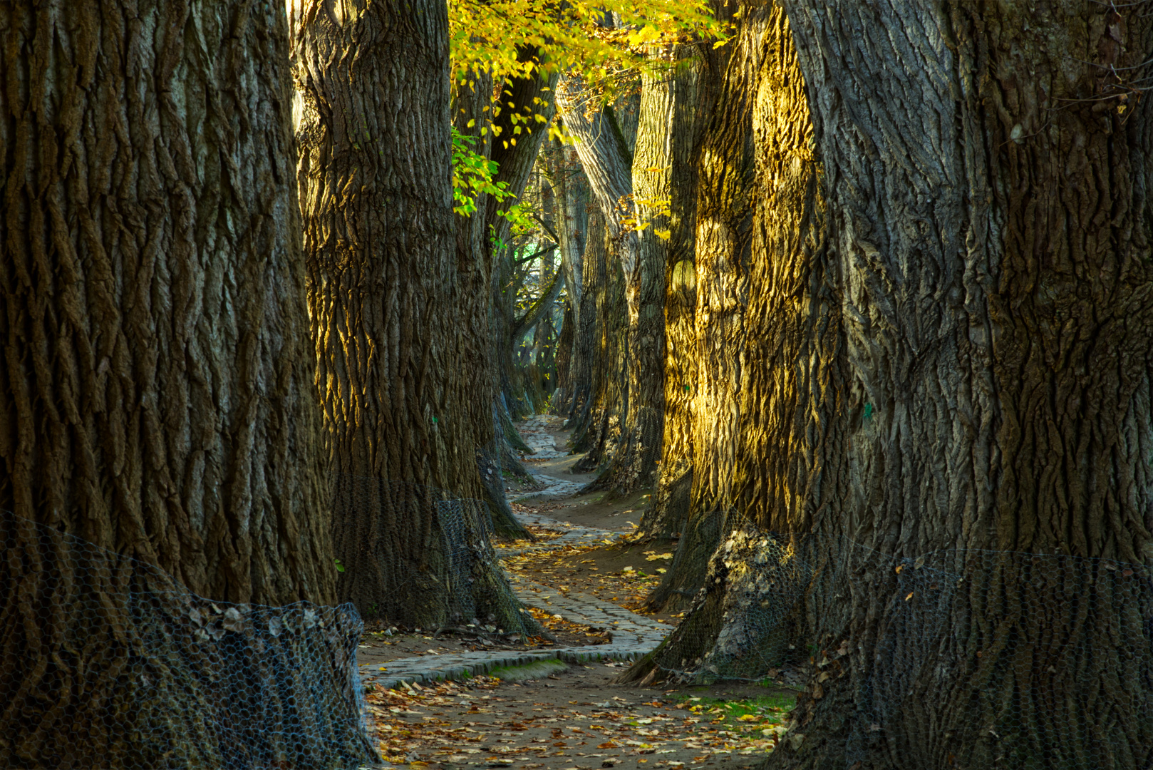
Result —
<path fill-rule="evenodd" d="M 787 694 L 612 685 L 624 665 L 528 672 L 541 678 L 523 682 L 507 672 L 368 700 L 387 761 L 417 769 L 748 768 L 784 732 Z"/>

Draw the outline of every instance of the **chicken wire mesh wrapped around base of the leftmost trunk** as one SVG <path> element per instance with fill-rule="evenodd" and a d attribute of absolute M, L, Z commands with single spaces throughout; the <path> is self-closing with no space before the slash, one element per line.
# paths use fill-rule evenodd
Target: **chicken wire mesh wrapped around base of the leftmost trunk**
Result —
<path fill-rule="evenodd" d="M 379 762 L 352 605 L 213 601 L 10 511 L 0 545 L 0 767 Z"/>

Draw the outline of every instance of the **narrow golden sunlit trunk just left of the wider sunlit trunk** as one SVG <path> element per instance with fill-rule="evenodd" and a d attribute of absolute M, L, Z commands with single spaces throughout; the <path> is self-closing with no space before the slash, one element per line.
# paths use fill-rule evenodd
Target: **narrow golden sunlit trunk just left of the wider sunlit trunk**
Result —
<path fill-rule="evenodd" d="M 680 268 L 683 277 L 677 279 L 678 285 L 695 285 L 693 470 L 688 514 L 673 562 L 647 600 L 654 610 L 689 605 L 704 583 L 709 556 L 721 543 L 734 501 L 734 461 L 744 429 L 739 397 L 745 312 L 755 256 L 753 118 L 763 70 L 784 35 L 779 9 L 758 3 L 743 8 L 737 40 L 729 44 L 736 47 L 699 154 L 695 264 Z"/>

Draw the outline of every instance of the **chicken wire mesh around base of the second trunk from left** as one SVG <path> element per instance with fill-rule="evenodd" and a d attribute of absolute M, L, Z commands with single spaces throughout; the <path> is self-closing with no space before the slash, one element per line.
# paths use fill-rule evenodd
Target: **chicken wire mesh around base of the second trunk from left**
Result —
<path fill-rule="evenodd" d="M 333 510 L 337 595 L 366 620 L 540 633 L 497 559 L 484 501 L 342 474 L 333 480 Z"/>

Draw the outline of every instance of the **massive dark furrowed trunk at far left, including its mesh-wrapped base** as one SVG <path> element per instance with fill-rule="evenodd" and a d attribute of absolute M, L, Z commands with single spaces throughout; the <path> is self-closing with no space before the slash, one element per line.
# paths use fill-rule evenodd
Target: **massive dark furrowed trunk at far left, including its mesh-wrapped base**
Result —
<path fill-rule="evenodd" d="M 282 6 L 0 29 L 0 765 L 374 761 L 355 614 L 255 606 L 337 577 Z"/>

